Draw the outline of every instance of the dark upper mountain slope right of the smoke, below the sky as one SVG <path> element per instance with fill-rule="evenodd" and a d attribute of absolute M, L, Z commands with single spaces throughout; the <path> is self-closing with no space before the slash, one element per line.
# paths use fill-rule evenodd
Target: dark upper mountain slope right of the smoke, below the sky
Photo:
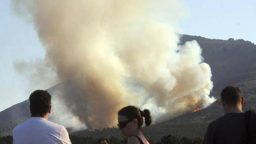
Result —
<path fill-rule="evenodd" d="M 256 79 L 256 45 L 249 41 L 216 40 L 200 36 L 183 35 L 181 44 L 196 40 L 202 56 L 211 67 L 214 91 L 227 85 Z"/>

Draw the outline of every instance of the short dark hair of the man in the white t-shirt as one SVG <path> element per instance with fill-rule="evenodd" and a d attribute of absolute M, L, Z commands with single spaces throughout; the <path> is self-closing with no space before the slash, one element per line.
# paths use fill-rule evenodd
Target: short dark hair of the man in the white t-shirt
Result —
<path fill-rule="evenodd" d="M 31 116 L 45 116 L 51 106 L 51 95 L 46 90 L 35 90 L 29 97 Z"/>

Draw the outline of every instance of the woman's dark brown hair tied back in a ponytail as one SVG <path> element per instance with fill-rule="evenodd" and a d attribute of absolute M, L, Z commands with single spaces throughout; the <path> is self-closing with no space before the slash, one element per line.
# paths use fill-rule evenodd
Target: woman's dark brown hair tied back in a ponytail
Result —
<path fill-rule="evenodd" d="M 122 108 L 118 111 L 118 115 L 126 116 L 129 120 L 136 118 L 138 120 L 138 128 L 143 125 L 143 117 L 145 118 L 146 126 L 149 126 L 152 122 L 150 111 L 148 109 L 141 111 L 135 106 L 126 106 Z"/>

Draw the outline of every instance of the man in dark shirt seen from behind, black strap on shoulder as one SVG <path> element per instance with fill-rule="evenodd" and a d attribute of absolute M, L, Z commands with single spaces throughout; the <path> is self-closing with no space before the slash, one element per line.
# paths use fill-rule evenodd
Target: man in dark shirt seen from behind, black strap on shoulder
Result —
<path fill-rule="evenodd" d="M 225 115 L 211 122 L 203 144 L 255 143 L 255 112 L 243 113 L 244 97 L 237 86 L 227 86 L 221 92 Z"/>

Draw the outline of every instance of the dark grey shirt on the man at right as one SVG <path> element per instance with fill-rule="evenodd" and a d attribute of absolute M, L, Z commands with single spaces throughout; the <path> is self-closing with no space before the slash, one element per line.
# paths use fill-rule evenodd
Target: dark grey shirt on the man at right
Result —
<path fill-rule="evenodd" d="M 209 124 L 203 144 L 229 143 L 246 143 L 245 113 L 227 113 Z"/>

